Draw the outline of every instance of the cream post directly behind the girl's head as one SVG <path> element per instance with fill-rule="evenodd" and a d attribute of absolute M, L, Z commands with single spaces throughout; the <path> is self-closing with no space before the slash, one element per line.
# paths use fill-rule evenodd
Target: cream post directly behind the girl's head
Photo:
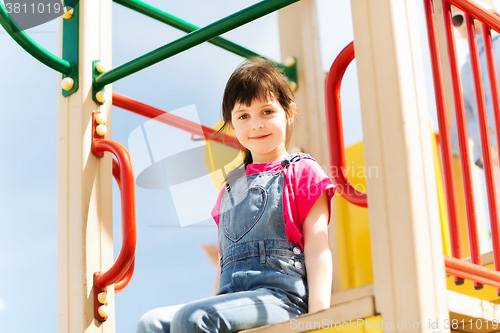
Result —
<path fill-rule="evenodd" d="M 298 123 L 292 145 L 329 170 L 325 120 L 325 74 L 321 69 L 316 0 L 303 0 L 278 12 L 281 57 L 297 59 L 295 93 Z"/>

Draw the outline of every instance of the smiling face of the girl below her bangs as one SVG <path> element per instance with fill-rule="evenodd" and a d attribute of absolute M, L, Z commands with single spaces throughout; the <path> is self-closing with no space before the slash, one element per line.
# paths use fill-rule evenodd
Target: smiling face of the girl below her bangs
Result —
<path fill-rule="evenodd" d="M 291 114 L 295 103 L 291 105 Z M 285 110 L 276 100 L 254 99 L 252 104 L 236 104 L 231 111 L 231 127 L 240 143 L 252 153 L 253 163 L 279 161 L 288 155 L 285 149 L 287 124 Z"/>

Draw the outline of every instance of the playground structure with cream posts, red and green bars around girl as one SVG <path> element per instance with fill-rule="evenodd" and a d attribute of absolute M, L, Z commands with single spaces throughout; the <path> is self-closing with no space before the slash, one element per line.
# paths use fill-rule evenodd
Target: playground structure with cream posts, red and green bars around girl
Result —
<path fill-rule="evenodd" d="M 435 167 L 432 135 L 423 101 L 422 87 L 425 83 L 416 36 L 418 29 L 415 1 L 423 1 L 426 9 L 427 38 L 431 50 L 440 129 L 441 190 L 439 182 L 436 185 L 436 179 L 439 178 L 436 174 L 441 175 L 441 170 Z M 492 324 L 493 320 L 500 320 L 500 312 L 497 311 L 498 305 L 493 302 L 498 300 L 498 290 L 492 290 L 493 296 L 491 293 L 480 296 L 479 292 L 464 292 L 454 286 L 467 279 L 474 281 L 475 289 L 481 289 L 483 284 L 500 288 L 500 235 L 496 193 L 491 185 L 493 175 L 488 143 L 490 139 L 485 125 L 485 113 L 480 112 L 494 249 L 493 254 L 489 255 L 492 257 L 490 262 L 482 260 L 449 4 L 483 23 L 488 74 L 492 89 L 495 90 L 492 95 L 495 97 L 496 116 L 500 112 L 498 84 L 491 47 L 488 47 L 491 45 L 488 44 L 488 41 L 491 43 L 491 35 L 487 27 L 500 31 L 500 18 L 485 11 L 472 0 L 415 1 L 351 1 L 355 39 L 353 44 L 341 52 L 327 79 L 328 113 L 325 112 L 323 103 L 324 82 L 319 67 L 314 1 L 262 1 L 198 29 L 140 1 L 117 0 L 121 5 L 176 26 L 188 34 L 110 70 L 99 65 L 99 61 L 111 63 L 111 28 L 106 20 L 111 15 L 110 1 L 65 2 L 71 15 L 61 18 L 62 58 L 43 52 L 43 48 L 30 41 L 24 32 L 12 33 L 28 52 L 62 73 L 61 86 L 66 88 L 60 90 L 58 113 L 59 330 L 113 332 L 113 294 L 126 286 L 134 269 L 135 212 L 134 205 L 127 204 L 133 202 L 134 178 L 126 150 L 109 139 L 111 104 L 133 109 L 149 118 L 160 115 L 161 110 L 112 92 L 111 83 L 205 41 L 244 57 L 256 56 L 254 52 L 217 36 L 279 9 L 282 54 L 295 59 L 283 61 L 285 64 L 279 66 L 285 69 L 291 86 L 297 89 L 297 104 L 310 111 L 308 117 L 299 124 L 294 145 L 313 155 L 321 165 L 330 165 L 330 169 L 336 171 L 332 178 L 339 193 L 347 201 L 369 208 L 359 208 L 367 216 L 363 226 L 360 226 L 356 224 L 357 221 L 341 221 L 336 204 L 335 219 L 332 218 L 330 226 L 334 267 L 337 268 L 334 269 L 331 308 L 300 317 L 297 326 L 300 328 L 299 324 L 302 323 L 302 330 L 291 330 L 290 323 L 259 330 L 308 331 L 306 323 L 322 322 L 326 318 L 334 323 L 366 319 L 367 322 L 379 323 L 379 327 L 381 320 L 394 323 L 394 326 L 396 323 L 422 323 L 419 328 L 392 328 L 396 331 L 415 332 L 449 331 L 449 328 L 443 326 L 437 328 L 437 331 L 433 330 L 435 328 L 429 324 L 436 321 L 444 323 L 446 320 L 456 319 L 465 320 L 465 324 L 469 324 L 469 320 L 479 319 L 483 326 L 489 323 L 490 330 L 485 332 L 496 331 Z M 297 3 L 291 5 L 295 2 Z M 100 10 L 96 11 L 95 8 Z M 9 32 L 12 26 L 2 4 L 0 17 L 2 25 Z M 468 15 L 466 24 L 472 63 L 479 73 L 473 21 Z M 93 38 L 95 35 L 100 38 Z M 357 191 L 351 184 L 353 179 L 349 179 L 345 172 L 346 158 L 342 141 L 340 82 L 345 68 L 354 58 L 354 49 L 358 75 L 362 78 L 359 86 L 364 162 L 367 166 L 377 168 L 377 177 L 367 177 L 365 180 L 367 193 Z M 478 96 L 483 96 L 480 75 L 475 81 Z M 478 101 L 481 103 L 482 99 L 478 98 Z M 455 183 L 456 178 L 460 177 L 456 172 L 454 174 L 449 148 L 448 126 L 451 115 L 447 114 L 447 110 L 450 112 L 453 109 L 459 124 L 461 170 L 464 170 L 462 179 L 468 223 L 465 230 L 458 222 L 461 213 L 456 203 Z M 484 101 L 478 109 L 484 111 Z M 98 114 L 106 115 L 107 119 L 103 120 Z M 200 133 L 199 125 L 183 119 L 168 116 L 162 116 L 161 119 L 169 119 L 165 120 L 169 125 L 197 136 L 206 137 L 214 132 L 212 129 L 202 128 Z M 500 118 L 496 120 L 498 124 Z M 107 133 L 102 131 L 101 125 L 108 126 Z M 218 139 L 220 138 L 215 138 Z M 226 142 L 233 146 L 237 144 L 233 139 L 227 139 L 227 136 Z M 102 156 L 104 151 L 112 152 L 117 160 L 112 160 L 109 154 Z M 356 154 L 359 155 L 359 151 Z M 109 202 L 112 175 L 122 193 L 124 223 L 123 247 L 115 263 L 112 262 L 112 233 L 109 232 L 112 230 Z M 440 191 L 445 193 L 446 204 L 439 203 Z M 446 214 L 443 214 L 443 209 L 440 211 L 440 207 L 445 208 Z M 446 228 L 442 231 L 443 215 L 450 225 L 449 231 Z M 369 237 L 366 234 L 368 220 Z M 360 259 L 360 256 L 370 254 L 369 250 L 363 251 L 370 247 L 367 244 L 359 245 L 360 241 L 356 239 L 360 228 L 365 228 L 362 230 L 365 232 L 363 239 L 368 239 L 371 243 L 371 260 Z M 467 251 L 464 251 L 460 233 L 464 232 L 468 232 L 470 239 L 469 261 L 463 260 L 464 252 Z M 347 239 L 349 235 L 352 239 Z M 450 241 L 451 255 L 443 257 L 443 253 L 447 253 L 446 242 L 443 242 L 443 239 L 447 239 L 446 235 Z M 344 253 L 345 250 L 348 253 Z M 493 269 L 483 267 L 483 264 L 490 263 L 494 263 Z M 446 273 L 453 276 L 448 289 L 457 290 L 458 293 L 447 291 Z M 346 279 L 351 280 L 346 282 Z M 107 297 L 100 294 L 104 291 L 107 291 Z M 461 293 L 468 293 L 470 296 Z M 94 297 L 88 298 L 88 295 Z M 492 302 L 482 302 L 480 298 Z M 102 307 L 103 304 L 107 308 Z M 476 327 L 471 323 L 456 330 L 475 332 Z"/>

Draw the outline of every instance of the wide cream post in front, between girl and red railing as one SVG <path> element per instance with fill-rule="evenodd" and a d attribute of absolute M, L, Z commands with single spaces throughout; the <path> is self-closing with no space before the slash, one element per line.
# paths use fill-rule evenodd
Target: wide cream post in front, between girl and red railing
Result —
<path fill-rule="evenodd" d="M 415 0 L 351 4 L 371 172 L 376 310 L 391 332 L 449 332 L 442 325 L 446 282 Z M 439 330 L 433 331 L 429 323 L 436 320 Z M 422 325 L 395 327 L 414 322 Z"/>

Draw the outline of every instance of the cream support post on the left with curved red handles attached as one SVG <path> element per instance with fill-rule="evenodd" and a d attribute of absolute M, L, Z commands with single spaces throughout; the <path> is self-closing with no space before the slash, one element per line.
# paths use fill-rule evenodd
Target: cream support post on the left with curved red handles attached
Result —
<path fill-rule="evenodd" d="M 94 272 L 113 264 L 111 157 L 91 152 L 93 110 L 106 114 L 106 138 L 111 138 L 111 86 L 102 106 L 91 95 L 92 61 L 111 66 L 111 5 L 111 0 L 79 1 L 79 89 L 63 97 L 59 84 L 57 92 L 59 332 L 115 332 L 113 287 L 108 288 L 111 313 L 104 324 L 94 319 L 93 295 Z"/>

